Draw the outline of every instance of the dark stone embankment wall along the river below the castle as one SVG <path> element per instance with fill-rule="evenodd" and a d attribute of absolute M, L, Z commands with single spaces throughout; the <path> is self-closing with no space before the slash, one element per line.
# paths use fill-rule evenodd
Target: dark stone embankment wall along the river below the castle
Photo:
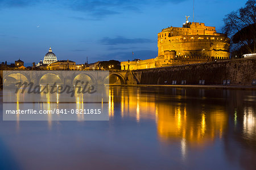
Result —
<path fill-rule="evenodd" d="M 205 85 L 222 85 L 223 80 L 230 80 L 231 85 L 251 85 L 256 79 L 256 58 L 143 69 L 132 73 L 137 77 L 132 84 L 170 85 L 172 81 L 181 84 L 186 80 L 187 85 L 198 85 L 200 80 L 205 80 Z"/>

